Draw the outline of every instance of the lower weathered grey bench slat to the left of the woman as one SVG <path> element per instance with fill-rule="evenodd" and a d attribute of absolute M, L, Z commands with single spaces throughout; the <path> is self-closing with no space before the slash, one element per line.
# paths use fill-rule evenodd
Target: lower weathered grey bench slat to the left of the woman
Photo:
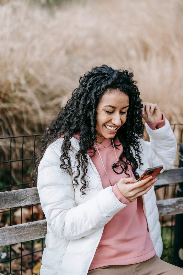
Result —
<path fill-rule="evenodd" d="M 46 233 L 46 220 L 1 227 L 0 246 L 44 238 Z"/>

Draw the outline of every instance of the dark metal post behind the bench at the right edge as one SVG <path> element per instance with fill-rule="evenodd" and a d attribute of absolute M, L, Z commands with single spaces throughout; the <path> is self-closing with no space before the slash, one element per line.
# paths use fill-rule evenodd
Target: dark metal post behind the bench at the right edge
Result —
<path fill-rule="evenodd" d="M 183 167 L 183 142 L 181 142 L 179 152 L 179 167 Z M 183 197 L 183 182 L 179 183 L 177 197 Z M 175 216 L 173 264 L 183 267 L 183 214 Z"/>

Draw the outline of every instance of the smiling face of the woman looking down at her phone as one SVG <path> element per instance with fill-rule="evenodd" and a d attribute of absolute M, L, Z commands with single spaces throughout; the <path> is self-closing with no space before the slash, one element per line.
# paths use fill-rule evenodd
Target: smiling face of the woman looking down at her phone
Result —
<path fill-rule="evenodd" d="M 126 121 L 128 107 L 128 95 L 119 90 L 106 91 L 97 106 L 97 142 L 114 138 Z"/>

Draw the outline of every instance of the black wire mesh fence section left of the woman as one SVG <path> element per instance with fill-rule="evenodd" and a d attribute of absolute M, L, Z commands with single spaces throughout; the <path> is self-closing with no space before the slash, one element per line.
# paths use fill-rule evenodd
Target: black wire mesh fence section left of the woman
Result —
<path fill-rule="evenodd" d="M 36 187 L 30 174 L 41 135 L 0 138 L 0 192 Z M 40 204 L 1 210 L 0 227 L 44 219 Z M 45 238 L 0 247 L 0 272 L 39 274 Z"/>

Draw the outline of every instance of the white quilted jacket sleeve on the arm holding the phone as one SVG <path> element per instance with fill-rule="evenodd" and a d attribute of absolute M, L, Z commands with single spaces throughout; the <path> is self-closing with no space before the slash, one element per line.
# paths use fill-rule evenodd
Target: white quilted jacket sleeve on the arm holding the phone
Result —
<path fill-rule="evenodd" d="M 75 240 L 104 226 L 126 204 L 110 186 L 76 206 L 72 178 L 60 168 L 60 155 L 58 147 L 47 148 L 38 167 L 38 193 L 47 226 L 60 238 Z"/>

